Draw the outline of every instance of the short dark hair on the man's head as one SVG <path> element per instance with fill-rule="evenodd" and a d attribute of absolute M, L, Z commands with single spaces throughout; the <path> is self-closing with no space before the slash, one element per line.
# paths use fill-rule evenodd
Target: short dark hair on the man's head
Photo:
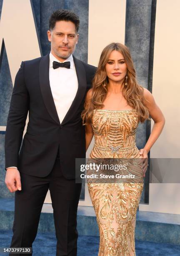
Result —
<path fill-rule="evenodd" d="M 49 20 L 49 30 L 51 31 L 55 27 L 56 21 L 60 20 L 71 21 L 75 24 L 76 32 L 78 32 L 80 23 L 79 16 L 70 10 L 64 9 L 56 10 L 52 13 Z"/>

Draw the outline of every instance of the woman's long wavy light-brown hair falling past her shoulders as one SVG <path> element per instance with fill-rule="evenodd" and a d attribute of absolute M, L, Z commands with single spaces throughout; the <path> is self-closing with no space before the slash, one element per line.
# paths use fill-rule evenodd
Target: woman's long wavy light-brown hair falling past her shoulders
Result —
<path fill-rule="evenodd" d="M 122 95 L 127 100 L 128 105 L 138 112 L 139 120 L 143 123 L 149 119 L 148 108 L 145 107 L 145 97 L 143 87 L 136 80 L 136 72 L 134 69 L 133 60 L 127 46 L 120 43 L 112 43 L 107 45 L 100 56 L 100 61 L 97 67 L 95 77 L 92 81 L 92 94 L 90 98 L 85 100 L 85 108 L 82 111 L 83 125 L 91 122 L 93 110 L 104 107 L 103 102 L 107 96 L 108 77 L 105 70 L 105 65 L 112 51 L 119 51 L 127 65 L 127 86 L 125 86 L 125 78 L 122 83 Z M 106 85 L 106 86 L 105 86 Z"/>

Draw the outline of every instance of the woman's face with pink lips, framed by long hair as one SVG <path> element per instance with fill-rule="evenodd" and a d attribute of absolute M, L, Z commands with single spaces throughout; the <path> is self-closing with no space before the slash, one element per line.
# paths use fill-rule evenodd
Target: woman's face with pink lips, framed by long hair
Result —
<path fill-rule="evenodd" d="M 123 82 L 127 74 L 124 56 L 119 51 L 112 51 L 105 65 L 105 70 L 109 81 Z"/>

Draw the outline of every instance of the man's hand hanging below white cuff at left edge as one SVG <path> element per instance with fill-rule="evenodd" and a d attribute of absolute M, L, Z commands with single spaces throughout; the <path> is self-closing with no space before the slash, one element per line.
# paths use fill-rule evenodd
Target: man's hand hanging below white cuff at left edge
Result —
<path fill-rule="evenodd" d="M 20 172 L 16 168 L 7 168 L 5 184 L 11 193 L 21 190 Z"/>

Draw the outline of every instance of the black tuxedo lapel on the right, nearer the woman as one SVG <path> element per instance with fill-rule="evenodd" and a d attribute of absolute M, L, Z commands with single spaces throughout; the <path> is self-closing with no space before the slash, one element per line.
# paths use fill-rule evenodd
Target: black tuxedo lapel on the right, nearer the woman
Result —
<path fill-rule="evenodd" d="M 75 64 L 75 69 L 77 74 L 78 89 L 77 89 L 75 98 L 72 102 L 72 105 L 67 111 L 65 118 L 62 120 L 62 123 L 61 123 L 62 125 L 67 123 L 76 113 L 80 103 L 83 100 L 83 97 L 85 96 L 85 92 L 87 88 L 86 73 L 85 73 L 84 65 L 82 64 L 82 61 L 80 61 L 79 59 L 76 59 L 75 56 L 73 56 L 73 59 L 74 59 L 74 64 Z"/>

